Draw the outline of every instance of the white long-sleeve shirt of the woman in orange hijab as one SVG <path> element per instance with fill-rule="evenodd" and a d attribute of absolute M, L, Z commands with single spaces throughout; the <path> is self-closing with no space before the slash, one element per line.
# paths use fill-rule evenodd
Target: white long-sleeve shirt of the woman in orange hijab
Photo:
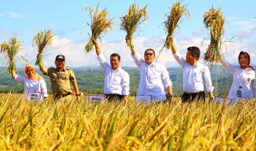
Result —
<path fill-rule="evenodd" d="M 24 75 L 15 75 L 14 80 L 17 80 L 18 82 L 21 82 L 24 84 L 24 97 L 28 94 L 28 91 L 37 91 L 37 92 L 42 92 L 43 97 L 47 97 L 47 88 L 46 88 L 46 83 L 44 79 L 40 80 L 32 80 L 29 79 L 28 77 Z M 41 98 L 42 100 L 42 98 Z"/>

